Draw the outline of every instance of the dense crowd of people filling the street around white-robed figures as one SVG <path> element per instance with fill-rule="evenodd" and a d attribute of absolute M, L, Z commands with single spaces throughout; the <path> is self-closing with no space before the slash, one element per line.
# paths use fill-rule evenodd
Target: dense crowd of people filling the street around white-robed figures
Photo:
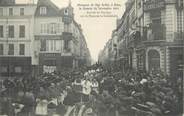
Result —
<path fill-rule="evenodd" d="M 182 78 L 161 72 L 108 71 L 101 65 L 5 79 L 0 115 L 180 116 Z"/>

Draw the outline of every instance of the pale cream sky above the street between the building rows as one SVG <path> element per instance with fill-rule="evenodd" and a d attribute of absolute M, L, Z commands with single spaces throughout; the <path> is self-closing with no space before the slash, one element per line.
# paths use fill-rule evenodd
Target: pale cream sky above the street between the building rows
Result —
<path fill-rule="evenodd" d="M 16 0 L 17 3 L 28 3 L 37 0 Z M 51 0 L 59 8 L 66 7 L 69 0 Z M 71 0 L 74 7 L 75 20 L 81 24 L 83 34 L 86 38 L 88 48 L 91 53 L 91 57 L 94 61 L 98 60 L 98 54 L 105 46 L 106 42 L 111 38 L 112 31 L 116 28 L 116 20 L 121 18 L 125 9 L 126 0 Z M 120 4 L 118 10 L 113 12 L 118 17 L 81 17 L 84 14 L 84 10 L 79 10 L 78 4 L 85 3 L 116 3 Z"/>

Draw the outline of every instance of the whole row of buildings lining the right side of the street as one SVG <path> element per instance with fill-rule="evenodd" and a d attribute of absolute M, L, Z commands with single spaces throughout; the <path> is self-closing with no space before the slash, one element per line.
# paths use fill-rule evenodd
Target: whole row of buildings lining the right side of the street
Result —
<path fill-rule="evenodd" d="M 117 21 L 118 62 L 131 68 L 183 76 L 183 0 L 130 0 Z"/>

